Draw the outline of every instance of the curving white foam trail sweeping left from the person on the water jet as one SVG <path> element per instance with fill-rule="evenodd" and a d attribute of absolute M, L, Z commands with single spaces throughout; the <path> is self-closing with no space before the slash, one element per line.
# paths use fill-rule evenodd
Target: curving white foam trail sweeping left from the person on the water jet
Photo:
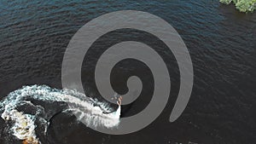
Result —
<path fill-rule="evenodd" d="M 51 89 L 46 85 L 24 86 L 22 89 L 11 92 L 1 101 L 0 112 L 3 112 L 1 117 L 5 121 L 13 123 L 10 129 L 12 134 L 20 140 L 25 140 L 26 143 L 40 143 L 35 133 L 35 120 L 40 114 L 39 109 L 35 114 L 17 110 L 17 107 L 24 104 L 38 107 L 34 106 L 31 100 L 67 102 L 68 107 L 64 109 L 64 112 L 75 113 L 87 126 L 113 128 L 119 124 L 120 107 L 113 112 L 113 108 L 107 103 L 86 97 L 72 89 Z M 44 119 L 44 121 L 47 120 Z M 47 127 L 45 132 L 46 130 Z"/>

